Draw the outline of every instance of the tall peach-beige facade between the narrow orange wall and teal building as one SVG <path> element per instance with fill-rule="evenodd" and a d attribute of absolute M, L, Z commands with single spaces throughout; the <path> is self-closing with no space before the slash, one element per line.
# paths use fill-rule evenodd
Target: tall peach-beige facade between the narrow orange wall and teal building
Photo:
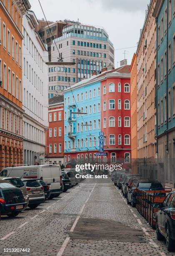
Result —
<path fill-rule="evenodd" d="M 153 11 L 156 0 L 151 0 L 137 49 L 137 139 L 138 158 L 155 157 L 155 67 L 156 23 Z M 132 96 L 131 96 L 132 97 Z"/>

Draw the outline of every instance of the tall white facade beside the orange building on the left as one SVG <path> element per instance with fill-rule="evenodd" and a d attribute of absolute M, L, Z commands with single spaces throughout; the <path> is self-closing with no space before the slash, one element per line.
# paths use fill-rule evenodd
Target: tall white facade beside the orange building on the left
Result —
<path fill-rule="evenodd" d="M 44 163 L 48 128 L 47 47 L 35 26 L 35 13 L 23 16 L 23 148 L 24 164 Z"/>

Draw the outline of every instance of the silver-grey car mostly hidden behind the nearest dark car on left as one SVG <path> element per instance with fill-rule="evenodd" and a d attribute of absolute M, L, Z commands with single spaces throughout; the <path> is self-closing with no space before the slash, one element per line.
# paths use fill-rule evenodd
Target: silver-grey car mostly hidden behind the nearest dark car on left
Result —
<path fill-rule="evenodd" d="M 29 196 L 27 193 L 27 188 L 25 187 L 24 182 L 19 177 L 0 177 L 1 180 L 8 180 L 11 184 L 13 184 L 15 187 L 18 187 L 24 196 L 25 202 L 29 203 Z"/>

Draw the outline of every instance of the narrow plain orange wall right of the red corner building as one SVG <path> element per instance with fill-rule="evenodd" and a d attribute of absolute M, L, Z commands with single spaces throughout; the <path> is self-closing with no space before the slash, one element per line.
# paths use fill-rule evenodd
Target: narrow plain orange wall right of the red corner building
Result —
<path fill-rule="evenodd" d="M 130 66 L 131 90 L 131 155 L 137 159 L 137 56 L 134 54 Z"/>

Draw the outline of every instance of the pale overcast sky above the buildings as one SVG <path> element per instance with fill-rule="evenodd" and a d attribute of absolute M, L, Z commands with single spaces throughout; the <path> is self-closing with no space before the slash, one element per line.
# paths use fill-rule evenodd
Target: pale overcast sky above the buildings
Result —
<path fill-rule="evenodd" d="M 43 18 L 38 0 L 29 0 L 38 19 Z M 137 46 L 145 10 L 150 0 L 40 0 L 47 20 L 77 20 L 102 26 L 109 34 L 114 49 Z M 115 50 L 115 67 L 126 59 L 131 63 L 135 48 Z"/>

